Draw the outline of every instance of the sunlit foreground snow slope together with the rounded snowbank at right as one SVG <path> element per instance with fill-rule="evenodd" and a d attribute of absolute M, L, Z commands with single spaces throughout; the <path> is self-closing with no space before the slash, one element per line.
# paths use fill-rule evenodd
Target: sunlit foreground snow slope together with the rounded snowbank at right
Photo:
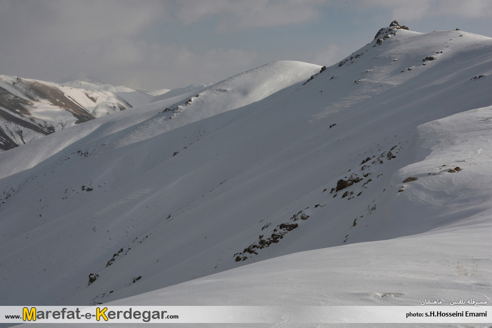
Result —
<path fill-rule="evenodd" d="M 422 225 L 422 219 L 456 215 L 456 223 L 408 237 L 286 255 L 105 305 L 418 306 L 437 298 L 443 305 L 459 298 L 490 303 L 490 128 L 492 106 L 423 124 L 418 127 L 415 162 L 392 176 L 398 180 L 391 190 L 392 212 L 399 220 Z M 443 162 L 447 167 L 440 165 Z M 465 176 L 448 172 L 456 164 Z M 397 192 L 408 174 L 419 179 Z M 294 326 L 297 317 L 285 316 L 285 322 L 275 326 Z"/>

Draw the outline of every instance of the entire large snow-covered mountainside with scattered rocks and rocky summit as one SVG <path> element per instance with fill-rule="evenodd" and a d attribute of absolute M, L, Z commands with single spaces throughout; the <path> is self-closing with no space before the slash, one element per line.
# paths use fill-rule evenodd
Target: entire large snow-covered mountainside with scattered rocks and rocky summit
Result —
<path fill-rule="evenodd" d="M 129 301 L 490 301 L 492 39 L 376 41 L 321 73 L 274 62 L 1 154 L 2 304 L 108 302 L 262 260 Z"/>

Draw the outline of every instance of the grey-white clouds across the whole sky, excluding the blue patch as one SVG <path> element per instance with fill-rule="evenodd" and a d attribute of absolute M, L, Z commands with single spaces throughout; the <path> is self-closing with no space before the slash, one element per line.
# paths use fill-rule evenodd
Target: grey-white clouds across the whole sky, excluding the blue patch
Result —
<path fill-rule="evenodd" d="M 207 28 L 214 23 L 220 33 L 315 20 L 320 23 L 327 9 L 332 15 L 338 13 L 338 7 L 346 10 L 347 6 L 342 0 L 0 0 L 1 73 L 58 80 L 86 71 L 113 84 L 172 88 L 192 82 L 217 82 L 275 59 L 330 65 L 353 48 L 328 32 L 326 41 L 332 44 L 317 48 L 315 53 L 313 48 L 292 44 L 281 53 L 258 50 L 258 54 L 255 49 L 262 48 L 256 41 L 261 37 L 245 41 L 244 47 L 230 46 L 217 42 L 224 35 L 210 32 L 193 44 L 190 40 L 181 42 L 184 37 L 179 30 L 192 24 L 202 28 L 199 24 L 206 21 Z M 411 20 L 439 15 L 472 19 L 492 16 L 492 2 L 478 0 L 353 0 L 352 7 L 384 15 L 389 11 L 392 19 L 406 25 Z M 164 30 L 165 26 L 170 26 L 172 32 Z M 150 37 L 141 40 L 147 31 Z M 306 34 L 306 38 L 311 37 Z M 344 44 L 344 51 L 335 42 Z M 214 48 L 213 44 L 222 47 Z"/>

